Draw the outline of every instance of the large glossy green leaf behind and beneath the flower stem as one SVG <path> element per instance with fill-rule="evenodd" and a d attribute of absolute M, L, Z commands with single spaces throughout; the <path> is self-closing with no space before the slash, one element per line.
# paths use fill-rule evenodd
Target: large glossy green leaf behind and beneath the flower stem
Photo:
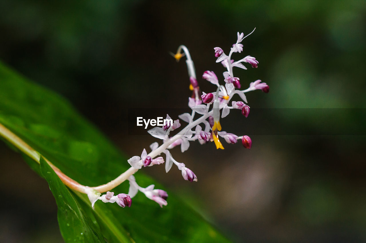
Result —
<path fill-rule="evenodd" d="M 130 167 L 126 156 L 66 100 L 1 63 L 0 123 L 82 185 L 105 184 Z M 164 208 L 138 193 L 132 198 L 131 208 L 98 201 L 93 210 L 86 195 L 62 184 L 44 159 L 40 159 L 39 167 L 27 154 L 24 157 L 49 183 L 66 242 L 227 242 L 171 192 Z M 141 186 L 155 184 L 166 190 L 141 171 L 135 176 Z M 128 183 L 113 192 L 128 192 Z"/>

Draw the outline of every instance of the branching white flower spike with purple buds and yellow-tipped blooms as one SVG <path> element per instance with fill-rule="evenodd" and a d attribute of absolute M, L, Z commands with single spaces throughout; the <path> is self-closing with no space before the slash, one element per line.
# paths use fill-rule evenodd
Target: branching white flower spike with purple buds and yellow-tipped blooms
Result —
<path fill-rule="evenodd" d="M 253 33 L 253 31 L 251 33 Z M 191 182 L 197 181 L 197 176 L 193 173 L 193 171 L 188 169 L 184 163 L 179 163 L 172 157 L 172 154 L 169 150 L 173 147 L 180 146 L 180 149 L 183 153 L 189 148 L 191 141 L 198 140 L 198 142 L 201 144 L 214 142 L 217 149 L 224 149 L 223 144 L 220 142 L 220 137 L 223 138 L 227 143 L 233 144 L 238 140 L 242 140 L 242 144 L 245 148 L 251 148 L 252 142 L 249 136 L 237 136 L 226 131 L 221 131 L 220 124 L 220 111 L 221 118 L 227 116 L 231 109 L 241 109 L 243 116 L 248 117 L 250 107 L 245 104 L 247 103 L 247 99 L 244 93 L 256 89 L 261 89 L 265 93 L 268 93 L 269 91 L 269 86 L 266 83 L 262 83 L 261 80 L 251 82 L 249 88 L 240 90 L 240 80 L 238 77 L 234 77 L 233 67 L 247 69 L 243 65 L 244 62 L 249 63 L 252 67 L 258 67 L 258 61 L 251 56 L 246 56 L 239 61 L 234 61 L 231 59 L 231 55 L 233 53 L 241 53 L 243 51 L 243 44 L 241 44 L 241 42 L 245 37 L 243 33 L 240 34 L 238 32 L 238 39 L 236 43 L 232 45 L 229 55 L 226 55 L 223 49 L 220 47 L 214 48 L 214 55 L 217 58 L 216 62 L 221 62 L 227 71 L 223 73 L 223 81 L 225 82 L 225 86 L 219 84 L 219 79 L 214 72 L 205 71 L 203 73 L 203 79 L 217 86 L 216 91 L 212 93 L 201 93 L 195 74 L 194 64 L 190 57 L 189 51 L 186 46 L 179 46 L 176 54 L 172 55 L 177 62 L 182 57 L 186 56 L 188 75 L 190 79 L 190 89 L 193 91 L 192 96 L 188 98 L 188 106 L 192 110 L 191 113 L 183 113 L 179 115 L 181 121 L 188 123 L 187 126 L 174 136 L 169 136 L 169 134 L 171 131 L 177 130 L 181 127 L 179 119 L 175 120 L 172 124 L 164 124 L 163 127 L 154 127 L 153 129 L 149 130 L 149 134 L 155 138 L 161 139 L 162 144 L 159 146 L 158 142 L 154 142 L 150 145 L 151 152 L 149 154 L 147 154 L 144 148 L 141 156 L 133 156 L 132 158 L 128 159 L 128 163 L 130 163 L 131 168 L 108 184 L 93 188 L 85 187 L 86 189 L 84 193 L 88 194 L 93 207 L 97 200 L 101 200 L 103 202 L 117 202 L 117 204 L 121 207 L 130 207 L 131 198 L 134 197 L 138 191 L 144 193 L 147 198 L 156 201 L 161 207 L 163 207 L 163 205 L 167 205 L 167 192 L 160 189 L 154 189 L 154 185 L 142 188 L 137 184 L 135 177 L 132 174 L 142 167 L 159 165 L 165 162 L 166 172 L 168 172 L 174 164 L 179 170 L 182 171 L 184 180 Z M 242 101 L 231 101 L 235 94 L 239 95 Z M 232 106 L 229 106 L 230 101 Z M 212 108 L 210 109 L 211 105 Z M 194 119 L 196 113 L 201 115 L 198 119 Z M 167 115 L 166 120 L 168 119 L 171 119 L 169 115 Z M 202 124 L 202 127 L 200 124 Z M 165 154 L 165 161 L 163 157 L 157 157 L 161 154 Z M 117 196 L 114 196 L 113 192 L 107 192 L 106 194 L 100 196 L 101 192 L 105 192 L 106 189 L 113 189 L 115 186 L 121 184 L 125 180 L 130 182 L 128 194 L 121 193 Z"/>

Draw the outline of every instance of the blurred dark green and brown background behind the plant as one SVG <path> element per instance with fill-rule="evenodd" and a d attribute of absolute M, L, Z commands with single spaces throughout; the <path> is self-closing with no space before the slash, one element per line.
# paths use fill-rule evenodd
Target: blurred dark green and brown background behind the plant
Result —
<path fill-rule="evenodd" d="M 129 109 L 187 108 L 186 65 L 169 55 L 186 45 L 200 75 L 224 71 L 236 32 L 258 69 L 235 74 L 250 116 L 232 111 L 223 129 L 241 144 L 191 144 L 172 151 L 198 176 L 152 175 L 236 242 L 365 242 L 366 2 L 12 1 L 0 2 L 0 59 L 60 93 L 127 155 L 155 140 L 128 131 Z M 173 117 L 176 118 L 176 117 Z M 1 242 L 62 242 L 45 180 L 0 144 Z M 141 173 L 141 172 L 140 172 Z M 169 207 L 169 205 L 168 205 Z"/>

